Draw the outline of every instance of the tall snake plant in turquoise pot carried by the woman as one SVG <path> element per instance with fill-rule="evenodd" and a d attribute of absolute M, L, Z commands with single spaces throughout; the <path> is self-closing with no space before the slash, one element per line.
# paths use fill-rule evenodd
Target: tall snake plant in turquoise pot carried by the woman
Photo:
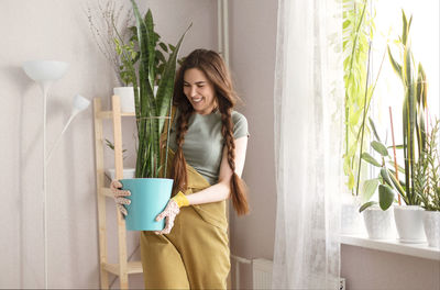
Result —
<path fill-rule="evenodd" d="M 168 202 L 173 179 L 163 178 L 167 171 L 168 144 L 161 154 L 161 134 L 165 121 L 170 120 L 170 109 L 176 74 L 177 54 L 186 31 L 175 49 L 166 59 L 158 79 L 157 93 L 154 93 L 157 67 L 155 66 L 155 33 L 151 10 L 141 16 L 134 0 L 131 1 L 136 20 L 136 33 L 140 49 L 139 86 L 135 93 L 135 115 L 138 127 L 136 171 L 133 179 L 120 180 L 123 189 L 131 191 L 131 203 L 127 205 L 127 228 L 130 231 L 161 231 L 164 221 L 156 222 L 156 215 Z M 189 27 L 188 27 L 189 29 Z M 138 91 L 138 88 L 134 88 Z M 169 124 L 167 134 L 169 134 Z"/>

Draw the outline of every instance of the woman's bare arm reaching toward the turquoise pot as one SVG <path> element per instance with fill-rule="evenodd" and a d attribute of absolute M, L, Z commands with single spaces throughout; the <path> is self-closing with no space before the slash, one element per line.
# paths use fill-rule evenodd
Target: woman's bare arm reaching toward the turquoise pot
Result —
<path fill-rule="evenodd" d="M 235 143 L 235 174 L 241 177 L 244 167 L 244 159 L 246 157 L 248 136 L 234 140 Z M 201 204 L 209 202 L 222 201 L 229 198 L 231 192 L 230 182 L 232 178 L 232 169 L 228 163 L 228 147 L 224 146 L 223 155 L 221 157 L 219 181 L 200 190 L 196 193 L 186 196 L 189 204 Z"/>

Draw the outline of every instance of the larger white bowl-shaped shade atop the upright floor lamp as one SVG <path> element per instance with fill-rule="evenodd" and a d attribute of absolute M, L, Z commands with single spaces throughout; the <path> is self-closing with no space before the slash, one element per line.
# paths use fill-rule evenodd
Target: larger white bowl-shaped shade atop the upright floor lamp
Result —
<path fill-rule="evenodd" d="M 23 64 L 26 75 L 35 81 L 58 80 L 67 67 L 67 63 L 56 60 L 30 60 Z"/>

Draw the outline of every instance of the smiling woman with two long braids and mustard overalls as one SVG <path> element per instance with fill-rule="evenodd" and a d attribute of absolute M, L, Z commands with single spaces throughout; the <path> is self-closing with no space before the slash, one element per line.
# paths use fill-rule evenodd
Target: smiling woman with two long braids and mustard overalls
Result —
<path fill-rule="evenodd" d="M 230 270 L 226 200 L 249 212 L 241 179 L 248 121 L 233 111 L 238 97 L 220 55 L 196 49 L 183 62 L 174 87 L 167 177 L 173 198 L 156 220 L 158 232 L 142 232 L 146 289 L 226 289 Z M 163 153 L 164 154 L 164 153 Z M 131 193 L 112 182 L 117 203 Z M 127 214 L 127 212 L 124 213 Z M 130 215 L 129 215 L 130 216 Z"/>

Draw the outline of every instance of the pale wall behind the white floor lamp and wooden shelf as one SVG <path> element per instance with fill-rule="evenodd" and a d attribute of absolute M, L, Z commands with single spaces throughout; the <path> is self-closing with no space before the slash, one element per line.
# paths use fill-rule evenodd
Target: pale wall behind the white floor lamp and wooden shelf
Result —
<path fill-rule="evenodd" d="M 67 121 L 75 93 L 101 97 L 109 104 L 114 76 L 92 41 L 84 13 L 87 0 L 0 1 L 0 288 L 42 288 L 42 93 L 21 68 L 29 59 L 70 64 L 54 83 L 47 102 L 47 145 Z M 101 1 L 102 2 L 102 1 Z M 118 0 L 118 2 L 129 1 Z M 183 55 L 196 47 L 217 48 L 216 0 L 138 0 L 151 7 L 157 31 L 176 43 L 193 22 Z M 74 120 L 48 166 L 48 286 L 98 288 L 98 236 L 92 110 Z M 125 131 L 132 122 L 124 121 Z M 110 132 L 110 131 L 109 131 Z M 132 141 L 124 145 L 130 147 Z M 130 163 L 130 160 L 129 160 Z M 116 250 L 114 205 L 109 200 L 109 249 Z M 138 244 L 130 235 L 129 255 Z M 116 261 L 116 255 L 110 255 Z M 142 277 L 131 279 L 142 287 Z M 113 287 L 118 287 L 118 281 Z"/>

